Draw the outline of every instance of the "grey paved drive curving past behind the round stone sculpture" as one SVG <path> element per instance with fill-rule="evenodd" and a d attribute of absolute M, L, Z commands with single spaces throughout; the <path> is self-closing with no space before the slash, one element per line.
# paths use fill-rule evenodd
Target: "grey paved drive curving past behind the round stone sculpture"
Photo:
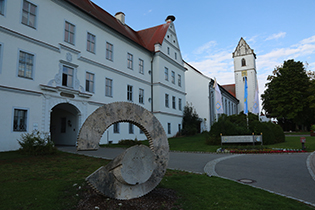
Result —
<path fill-rule="evenodd" d="M 97 151 L 76 151 L 75 147 L 60 150 L 114 159 L 124 149 L 100 148 Z M 291 197 L 315 206 L 315 152 L 297 154 L 204 154 L 170 152 L 169 169 L 207 173 L 234 181 L 253 180 L 257 188 Z"/>

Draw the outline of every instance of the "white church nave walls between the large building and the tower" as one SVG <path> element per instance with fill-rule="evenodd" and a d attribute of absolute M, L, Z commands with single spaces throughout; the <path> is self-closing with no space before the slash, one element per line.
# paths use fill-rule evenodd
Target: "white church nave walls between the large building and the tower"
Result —
<path fill-rule="evenodd" d="M 202 120 L 200 132 L 209 131 L 212 124 L 218 119 L 219 114 L 215 110 L 214 80 L 202 74 L 196 68 L 184 62 L 187 71 L 185 73 L 185 83 L 187 85 L 186 100 L 196 109 L 199 118 Z M 223 111 L 226 115 L 238 113 L 238 103 L 235 95 L 219 85 L 222 95 Z"/>

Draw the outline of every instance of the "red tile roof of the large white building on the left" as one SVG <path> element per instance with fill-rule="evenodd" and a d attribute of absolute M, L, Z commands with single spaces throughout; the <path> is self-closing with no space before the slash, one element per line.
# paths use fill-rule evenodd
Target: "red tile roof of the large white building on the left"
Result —
<path fill-rule="evenodd" d="M 144 29 L 141 31 L 134 31 L 128 25 L 122 24 L 114 16 L 110 15 L 108 12 L 103 10 L 101 7 L 97 6 L 90 0 L 65 0 L 82 10 L 86 14 L 97 19 L 101 23 L 107 25 L 123 36 L 129 38 L 135 43 L 143 46 L 147 50 L 154 52 L 154 45 L 156 43 L 162 44 L 163 39 L 166 35 L 170 22 L 166 22 L 162 25 Z"/>

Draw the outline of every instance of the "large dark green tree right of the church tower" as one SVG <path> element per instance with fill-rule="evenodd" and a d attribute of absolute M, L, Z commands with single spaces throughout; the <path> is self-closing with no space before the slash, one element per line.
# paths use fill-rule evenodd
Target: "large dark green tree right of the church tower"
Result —
<path fill-rule="evenodd" d="M 263 109 L 279 122 L 308 125 L 310 78 L 300 61 L 287 60 L 269 75 L 267 89 L 261 95 Z"/>

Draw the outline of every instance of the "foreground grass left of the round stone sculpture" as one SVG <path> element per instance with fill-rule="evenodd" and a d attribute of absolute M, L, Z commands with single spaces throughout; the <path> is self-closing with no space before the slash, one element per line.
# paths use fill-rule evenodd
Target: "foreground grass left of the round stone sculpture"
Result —
<path fill-rule="evenodd" d="M 71 209 L 78 186 L 107 162 L 62 152 L 38 157 L 1 152 L 0 209 Z"/>

